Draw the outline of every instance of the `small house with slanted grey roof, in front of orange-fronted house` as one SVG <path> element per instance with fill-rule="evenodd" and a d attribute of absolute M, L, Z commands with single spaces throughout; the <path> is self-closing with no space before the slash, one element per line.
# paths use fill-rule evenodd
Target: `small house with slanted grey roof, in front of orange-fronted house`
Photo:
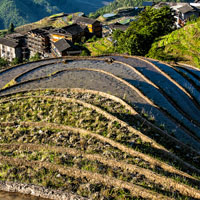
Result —
<path fill-rule="evenodd" d="M 52 54 L 55 57 L 80 55 L 81 51 L 70 40 L 61 39 L 51 46 Z"/>

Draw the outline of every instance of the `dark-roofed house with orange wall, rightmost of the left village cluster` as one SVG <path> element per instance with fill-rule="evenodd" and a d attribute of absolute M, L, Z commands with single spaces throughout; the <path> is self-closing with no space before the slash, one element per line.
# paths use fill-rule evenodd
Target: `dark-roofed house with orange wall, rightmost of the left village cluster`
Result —
<path fill-rule="evenodd" d="M 86 38 L 94 35 L 102 37 L 102 24 L 99 21 L 87 17 L 74 17 L 73 21 L 85 30 Z"/>

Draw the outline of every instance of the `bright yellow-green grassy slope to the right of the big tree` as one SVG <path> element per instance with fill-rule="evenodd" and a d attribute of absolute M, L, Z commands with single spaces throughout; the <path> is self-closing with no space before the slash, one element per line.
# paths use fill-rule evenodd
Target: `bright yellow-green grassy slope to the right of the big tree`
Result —
<path fill-rule="evenodd" d="M 184 61 L 200 67 L 200 19 L 156 41 L 148 56 L 161 60 Z"/>

